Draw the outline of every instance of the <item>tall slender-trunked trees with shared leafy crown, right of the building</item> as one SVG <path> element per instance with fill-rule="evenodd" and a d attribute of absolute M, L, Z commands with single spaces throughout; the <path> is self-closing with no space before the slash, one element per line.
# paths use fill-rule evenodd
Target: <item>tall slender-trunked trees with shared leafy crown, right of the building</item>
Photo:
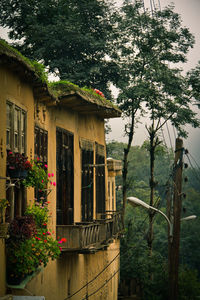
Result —
<path fill-rule="evenodd" d="M 127 198 L 128 155 L 133 142 L 137 117 L 146 114 L 150 125 L 146 126 L 150 142 L 150 201 L 154 206 L 155 151 L 160 145 L 159 132 L 167 121 L 180 135 L 186 136 L 184 125 L 199 125 L 190 108 L 190 89 L 187 78 L 181 75 L 176 63 L 186 62 L 186 55 L 193 46 L 194 37 L 181 26 L 181 19 L 169 6 L 151 14 L 143 7 L 143 1 L 133 4 L 125 0 L 116 16 L 117 34 L 113 56 L 120 66 L 117 99 L 123 116 L 127 118 L 125 134 L 128 137 L 124 149 L 123 210 Z M 173 65 L 172 65 L 173 64 Z M 152 250 L 154 213 L 149 213 L 148 246 Z"/>

